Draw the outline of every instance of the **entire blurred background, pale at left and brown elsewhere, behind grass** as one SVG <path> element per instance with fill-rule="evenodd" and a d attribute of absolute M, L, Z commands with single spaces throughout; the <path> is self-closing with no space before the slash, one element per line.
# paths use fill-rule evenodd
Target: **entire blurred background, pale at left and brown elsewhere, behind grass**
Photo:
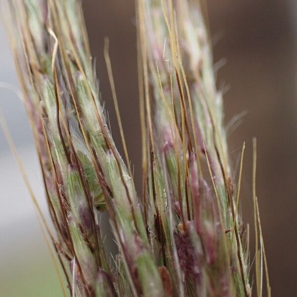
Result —
<path fill-rule="evenodd" d="M 206 1 L 204 1 L 205 3 Z M 110 57 L 135 181 L 141 184 L 136 28 L 133 0 L 83 1 L 100 92 L 111 129 L 120 136 L 103 60 L 103 40 Z M 204 5 L 204 8 L 206 6 Z M 296 296 L 297 280 L 297 1 L 207 0 L 214 63 L 224 96 L 226 123 L 247 111 L 229 135 L 236 164 L 246 142 L 242 205 L 252 230 L 252 137 L 257 137 L 257 196 L 273 296 Z M 0 84 L 18 88 L 13 61 L 0 28 Z M 47 209 L 33 139 L 21 100 L 0 88 L 0 105 L 24 161 L 32 187 Z M 251 232 L 252 233 L 252 232 Z M 253 238 L 251 238 L 251 246 Z M 251 248 L 251 261 L 253 248 Z M 0 132 L 0 295 L 62 296 L 32 202 Z"/>

